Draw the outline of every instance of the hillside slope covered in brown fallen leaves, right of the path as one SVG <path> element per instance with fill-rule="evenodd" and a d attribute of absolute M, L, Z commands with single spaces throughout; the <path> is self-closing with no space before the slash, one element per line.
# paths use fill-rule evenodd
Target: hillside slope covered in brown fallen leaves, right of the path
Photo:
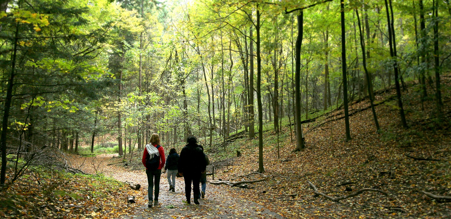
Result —
<path fill-rule="evenodd" d="M 450 76 L 443 75 L 443 112 L 445 119 L 438 122 L 433 111 L 434 102 L 425 103 L 421 111 L 419 87 L 411 85 L 403 92 L 403 103 L 409 129 L 400 126 L 395 90 L 377 95 L 376 102 L 387 101 L 376 107 L 382 128 L 376 133 L 371 110 L 357 112 L 350 117 L 352 140 L 345 142 L 344 119 L 328 122 L 342 116 L 343 111 L 321 116 L 314 123 L 304 124 L 306 149 L 292 153 L 290 129 L 283 126 L 280 136 L 280 158 L 277 158 L 277 135 L 264 133 L 264 182 L 253 183 L 254 189 L 233 187 L 232 195 L 239 193 L 286 218 L 449 218 L 450 202 L 439 202 L 421 191 L 436 195 L 451 195 L 451 117 Z M 429 90 L 433 94 L 433 90 Z M 369 106 L 368 100 L 350 106 L 350 112 Z M 240 139 L 235 144 L 243 156 L 234 159 L 231 166 L 218 170 L 222 180 L 261 179 L 239 177 L 258 169 L 258 140 Z M 409 158 L 434 158 L 442 161 L 422 161 Z M 283 161 L 282 161 L 283 160 Z M 306 182 L 311 181 L 320 192 L 337 197 L 362 188 L 376 188 L 389 196 L 369 191 L 340 202 L 314 196 Z M 353 191 L 345 191 L 345 186 Z M 224 185 L 221 185 L 224 186 Z M 295 197 L 285 196 L 296 194 Z"/>

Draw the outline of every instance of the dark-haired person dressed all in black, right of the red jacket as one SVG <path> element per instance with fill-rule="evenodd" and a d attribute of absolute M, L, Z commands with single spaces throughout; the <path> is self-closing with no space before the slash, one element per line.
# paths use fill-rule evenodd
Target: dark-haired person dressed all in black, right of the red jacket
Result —
<path fill-rule="evenodd" d="M 205 154 L 194 136 L 189 137 L 186 146 L 180 152 L 179 174 L 184 177 L 186 202 L 191 204 L 191 183 L 193 183 L 194 204 L 199 205 L 199 182 L 201 173 L 207 167 Z"/>

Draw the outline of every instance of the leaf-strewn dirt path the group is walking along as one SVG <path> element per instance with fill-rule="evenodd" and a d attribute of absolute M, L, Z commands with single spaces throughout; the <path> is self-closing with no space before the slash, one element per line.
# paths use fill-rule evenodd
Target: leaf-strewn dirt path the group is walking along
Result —
<path fill-rule="evenodd" d="M 224 186 L 213 186 L 207 183 L 205 199 L 200 199 L 200 205 L 184 203 L 183 178 L 176 179 L 175 192 L 170 192 L 166 173 L 161 173 L 159 205 L 147 208 L 147 176 L 144 171 L 128 171 L 122 166 L 110 165 L 120 160 L 113 158 L 117 154 L 101 154 L 95 158 L 74 157 L 72 163 L 86 172 L 102 172 L 108 177 L 122 182 L 141 184 L 140 197 L 136 197 L 136 205 L 141 205 L 133 215 L 122 215 L 121 219 L 283 219 L 279 214 L 265 209 L 253 201 L 240 198 L 239 190 L 227 191 Z M 84 162 L 84 164 L 83 164 Z M 94 163 L 96 168 L 94 168 Z M 83 164 L 83 165 L 82 165 Z M 100 164 L 100 165 L 99 165 Z M 191 192 L 192 193 L 192 192 Z M 191 194 L 193 203 L 193 194 Z"/>

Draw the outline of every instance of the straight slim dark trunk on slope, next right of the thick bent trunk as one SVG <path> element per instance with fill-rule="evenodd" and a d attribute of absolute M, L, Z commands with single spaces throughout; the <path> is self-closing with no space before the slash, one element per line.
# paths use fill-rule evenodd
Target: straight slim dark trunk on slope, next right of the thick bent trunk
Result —
<path fill-rule="evenodd" d="M 345 131 L 346 141 L 351 140 L 349 130 L 349 111 L 348 111 L 348 80 L 346 78 L 346 33 L 345 33 L 345 2 L 340 3 L 341 6 L 341 71 L 343 74 L 343 105 L 345 107 Z"/>

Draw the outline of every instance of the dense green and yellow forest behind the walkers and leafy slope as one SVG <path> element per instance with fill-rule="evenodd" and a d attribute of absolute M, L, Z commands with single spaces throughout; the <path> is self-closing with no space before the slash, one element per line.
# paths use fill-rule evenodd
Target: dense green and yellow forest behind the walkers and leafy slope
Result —
<path fill-rule="evenodd" d="M 419 112 L 446 121 L 448 0 L 2 0 L 0 7 L 1 184 L 30 166 L 69 169 L 50 153 L 125 157 L 152 133 L 165 148 L 181 149 L 195 135 L 218 151 L 244 131 L 259 139 L 264 172 L 263 130 L 288 124 L 292 150 L 302 151 L 309 141 L 302 124 L 343 108 L 340 137 L 352 140 L 348 103 L 368 98 L 372 129 L 381 132 L 374 93 L 392 87 L 392 120 L 408 128 L 403 98 L 415 83 L 409 95 L 421 100 Z"/>

